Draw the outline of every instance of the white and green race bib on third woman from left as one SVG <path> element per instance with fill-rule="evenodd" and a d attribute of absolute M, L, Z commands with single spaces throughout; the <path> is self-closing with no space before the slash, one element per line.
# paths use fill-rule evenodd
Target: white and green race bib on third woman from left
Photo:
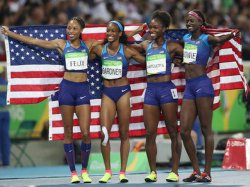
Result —
<path fill-rule="evenodd" d="M 166 72 L 166 54 L 148 56 L 147 75 L 161 74 Z"/>

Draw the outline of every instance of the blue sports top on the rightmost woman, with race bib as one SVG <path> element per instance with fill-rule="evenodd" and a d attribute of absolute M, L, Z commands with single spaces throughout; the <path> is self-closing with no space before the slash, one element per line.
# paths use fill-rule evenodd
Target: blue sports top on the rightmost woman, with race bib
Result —
<path fill-rule="evenodd" d="M 208 43 L 208 35 L 202 34 L 197 40 L 191 40 L 192 35 L 183 36 L 185 42 L 183 63 L 207 66 L 208 58 L 212 52 L 212 45 Z"/>

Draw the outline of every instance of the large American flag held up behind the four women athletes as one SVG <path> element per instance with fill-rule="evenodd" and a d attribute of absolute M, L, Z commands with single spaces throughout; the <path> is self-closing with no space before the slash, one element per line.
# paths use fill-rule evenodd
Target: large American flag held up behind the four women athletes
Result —
<path fill-rule="evenodd" d="M 138 25 L 126 25 L 125 31 L 134 30 Z M 56 38 L 66 39 L 65 26 L 28 26 L 15 27 L 13 31 L 36 38 L 52 40 Z M 83 33 L 85 39 L 104 39 L 106 27 L 104 25 L 88 25 Z M 166 38 L 179 40 L 186 33 L 186 30 L 170 30 Z M 223 34 L 225 31 L 219 32 Z M 218 33 L 212 33 L 218 34 Z M 130 38 L 131 42 L 140 41 L 141 34 Z M 62 80 L 63 66 L 60 55 L 55 50 L 46 50 L 39 47 L 26 45 L 6 38 L 7 64 L 8 64 L 8 104 L 38 103 L 48 96 L 49 99 L 49 139 L 63 139 L 63 124 L 60 109 L 57 102 L 56 90 Z M 208 76 L 212 79 L 216 97 L 214 108 L 219 106 L 220 90 L 239 89 L 246 85 L 243 76 L 241 61 L 240 38 L 231 39 L 224 45 L 214 49 L 214 56 L 208 63 Z M 101 95 L 101 74 L 98 59 L 89 62 L 88 81 L 91 86 L 91 137 L 100 137 L 100 95 Z M 143 123 L 143 93 L 146 87 L 146 73 L 144 67 L 136 63 L 129 66 L 128 78 L 132 89 L 132 114 L 130 120 L 130 136 L 145 135 Z M 182 92 L 185 88 L 184 69 L 175 67 L 172 71 L 172 81 L 177 86 L 179 95 L 179 106 L 182 101 Z M 180 112 L 180 107 L 179 107 Z M 115 119 L 112 126 L 111 137 L 119 136 L 118 121 Z M 80 128 L 77 118 L 74 116 L 73 138 L 79 139 Z M 166 133 L 165 123 L 160 121 L 158 133 Z"/>

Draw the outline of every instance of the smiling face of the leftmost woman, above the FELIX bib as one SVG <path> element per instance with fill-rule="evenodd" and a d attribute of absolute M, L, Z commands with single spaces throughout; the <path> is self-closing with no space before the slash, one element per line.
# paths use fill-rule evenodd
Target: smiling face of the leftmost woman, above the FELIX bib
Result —
<path fill-rule="evenodd" d="M 76 20 L 69 21 L 67 25 L 67 35 L 69 36 L 69 40 L 73 41 L 79 39 L 82 29 L 83 28 L 81 28 Z"/>

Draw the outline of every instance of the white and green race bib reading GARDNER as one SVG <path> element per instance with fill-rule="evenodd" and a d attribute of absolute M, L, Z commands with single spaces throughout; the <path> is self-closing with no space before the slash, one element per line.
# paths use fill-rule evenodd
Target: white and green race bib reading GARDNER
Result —
<path fill-rule="evenodd" d="M 122 77 L 122 61 L 103 60 L 102 77 L 104 79 L 119 79 Z"/>

